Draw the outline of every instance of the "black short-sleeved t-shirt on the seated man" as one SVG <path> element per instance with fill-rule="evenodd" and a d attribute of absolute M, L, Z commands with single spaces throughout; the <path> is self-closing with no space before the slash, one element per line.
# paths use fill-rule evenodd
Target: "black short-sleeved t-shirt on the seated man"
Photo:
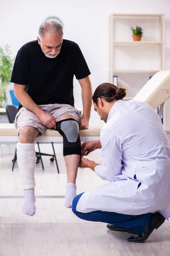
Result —
<path fill-rule="evenodd" d="M 59 55 L 48 58 L 36 40 L 19 49 L 11 82 L 27 85 L 26 91 L 37 105 L 59 103 L 74 106 L 74 75 L 82 79 L 90 74 L 78 44 L 63 39 Z"/>

